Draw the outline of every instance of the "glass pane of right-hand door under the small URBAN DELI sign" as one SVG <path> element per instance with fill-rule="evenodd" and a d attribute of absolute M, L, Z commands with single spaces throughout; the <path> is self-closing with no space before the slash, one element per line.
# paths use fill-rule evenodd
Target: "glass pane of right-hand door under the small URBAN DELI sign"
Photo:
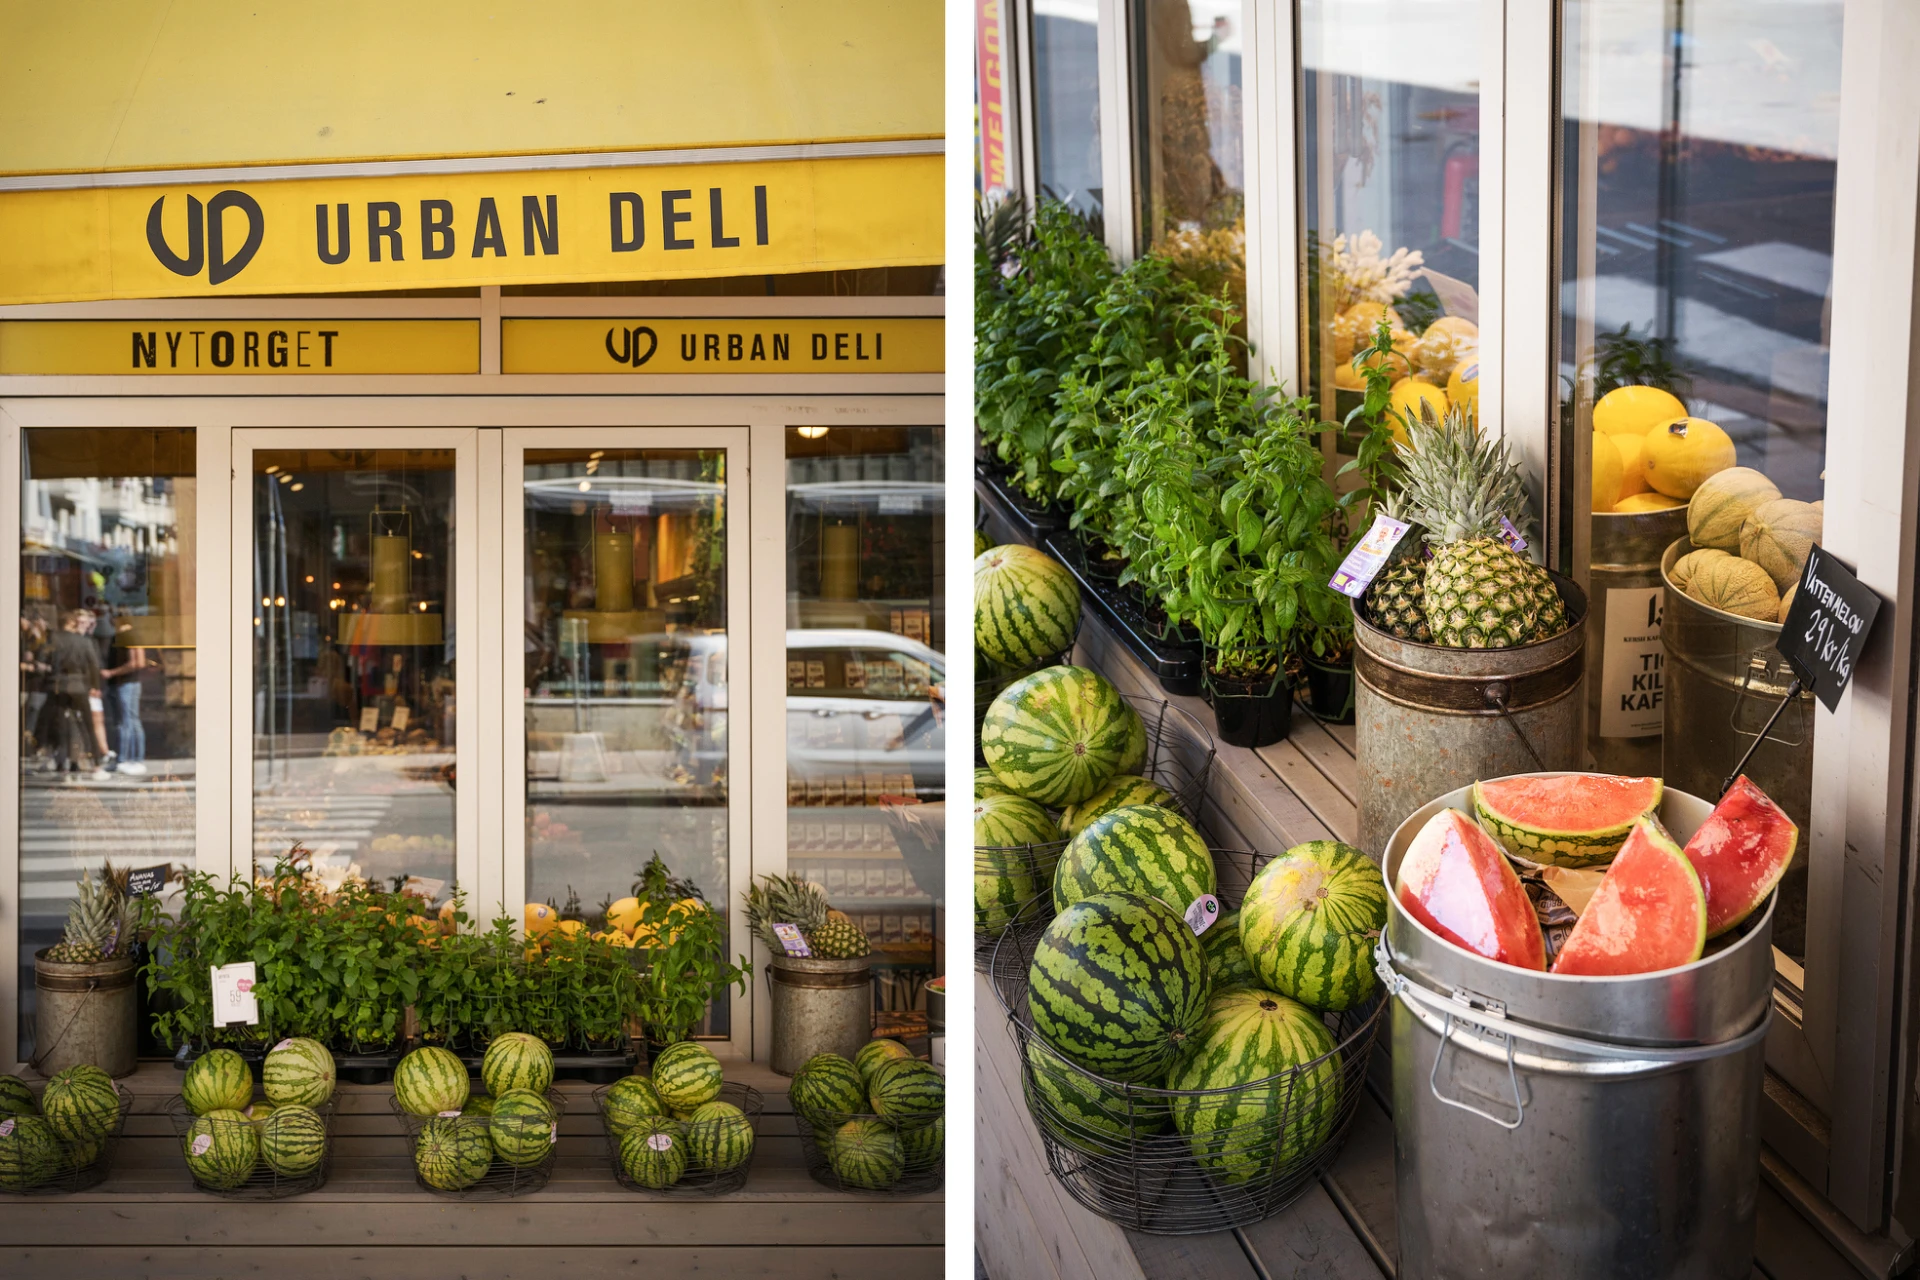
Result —
<path fill-rule="evenodd" d="M 730 908 L 726 480 L 716 449 L 526 451 L 526 889 L 591 931 L 655 858 Z"/>

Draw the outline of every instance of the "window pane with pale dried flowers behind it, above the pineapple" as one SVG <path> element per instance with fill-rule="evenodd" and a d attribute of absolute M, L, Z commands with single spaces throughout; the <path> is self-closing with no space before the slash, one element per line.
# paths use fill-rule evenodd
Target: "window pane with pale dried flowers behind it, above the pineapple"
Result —
<path fill-rule="evenodd" d="M 1482 0 L 1302 0 L 1304 388 L 1342 420 L 1382 309 L 1394 378 L 1478 405 Z"/>

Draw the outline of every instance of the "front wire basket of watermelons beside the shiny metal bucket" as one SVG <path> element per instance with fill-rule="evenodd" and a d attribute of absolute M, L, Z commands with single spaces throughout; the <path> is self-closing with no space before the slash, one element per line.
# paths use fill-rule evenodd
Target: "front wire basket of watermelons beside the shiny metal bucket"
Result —
<path fill-rule="evenodd" d="M 1236 910 L 1267 856 L 1212 852 L 1221 910 Z M 1386 1000 L 1375 992 L 1354 1009 L 1321 1013 L 1334 1050 L 1265 1080 L 1217 1090 L 1121 1084 L 1073 1065 L 1033 1029 L 1027 969 L 1052 917 L 1050 902 L 1020 913 L 995 952 L 993 981 L 1054 1178 L 1100 1217 L 1156 1236 L 1246 1226 L 1298 1199 L 1346 1142 Z"/>

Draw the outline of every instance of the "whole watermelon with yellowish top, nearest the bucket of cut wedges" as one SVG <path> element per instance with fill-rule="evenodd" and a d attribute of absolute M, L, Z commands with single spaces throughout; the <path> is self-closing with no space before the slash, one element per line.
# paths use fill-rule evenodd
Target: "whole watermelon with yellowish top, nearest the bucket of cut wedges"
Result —
<path fill-rule="evenodd" d="M 1350 1009 L 1373 994 L 1384 927 L 1380 867 L 1338 841 L 1294 844 L 1240 902 L 1240 946 L 1260 984 L 1313 1009 Z"/>

